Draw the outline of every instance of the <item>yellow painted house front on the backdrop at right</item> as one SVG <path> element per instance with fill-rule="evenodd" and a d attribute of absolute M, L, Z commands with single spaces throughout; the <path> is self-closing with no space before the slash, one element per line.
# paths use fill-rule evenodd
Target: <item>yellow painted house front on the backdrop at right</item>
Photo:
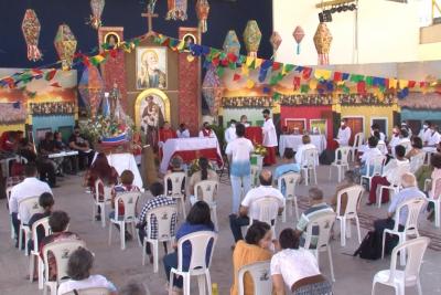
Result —
<path fill-rule="evenodd" d="M 394 110 L 397 106 L 341 106 L 342 118 L 344 117 L 363 117 L 364 131 L 367 138 L 370 135 L 370 118 L 387 118 L 387 134 L 391 134 L 394 127 Z"/>

